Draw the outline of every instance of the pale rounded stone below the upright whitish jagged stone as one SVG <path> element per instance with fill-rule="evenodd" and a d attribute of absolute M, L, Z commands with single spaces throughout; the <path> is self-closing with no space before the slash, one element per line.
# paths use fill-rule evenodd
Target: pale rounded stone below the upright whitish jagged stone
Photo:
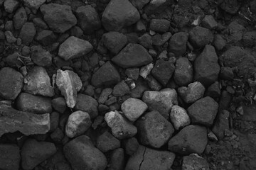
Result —
<path fill-rule="evenodd" d="M 92 121 L 87 112 L 75 111 L 68 117 L 68 122 L 65 126 L 65 134 L 71 138 L 82 135 L 91 125 Z"/>

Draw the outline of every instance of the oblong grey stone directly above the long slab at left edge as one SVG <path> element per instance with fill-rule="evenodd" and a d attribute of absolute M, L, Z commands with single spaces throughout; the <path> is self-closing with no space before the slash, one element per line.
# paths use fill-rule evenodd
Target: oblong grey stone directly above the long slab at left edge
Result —
<path fill-rule="evenodd" d="M 50 98 L 27 93 L 21 93 L 18 96 L 16 105 L 19 111 L 36 114 L 52 113 L 53 111 Z"/>

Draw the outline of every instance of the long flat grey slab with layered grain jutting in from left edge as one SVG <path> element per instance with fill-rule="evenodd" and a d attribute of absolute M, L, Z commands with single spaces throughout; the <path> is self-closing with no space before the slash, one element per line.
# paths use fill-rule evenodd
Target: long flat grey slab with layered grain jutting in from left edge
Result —
<path fill-rule="evenodd" d="M 24 135 L 46 134 L 50 130 L 50 114 L 36 115 L 16 111 L 11 106 L 0 105 L 0 137 L 8 132 L 22 132 Z M 1 164 L 1 163 L 0 163 Z"/>

